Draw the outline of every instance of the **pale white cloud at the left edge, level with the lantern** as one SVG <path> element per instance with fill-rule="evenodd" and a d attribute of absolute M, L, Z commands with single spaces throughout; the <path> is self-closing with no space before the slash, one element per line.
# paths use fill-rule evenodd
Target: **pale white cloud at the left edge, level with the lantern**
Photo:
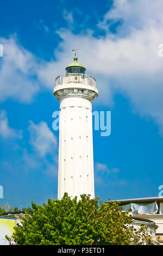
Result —
<path fill-rule="evenodd" d="M 39 90 L 37 62 L 32 53 L 18 45 L 16 36 L 0 38 L 4 56 L 0 62 L 0 101 L 30 102 Z"/>

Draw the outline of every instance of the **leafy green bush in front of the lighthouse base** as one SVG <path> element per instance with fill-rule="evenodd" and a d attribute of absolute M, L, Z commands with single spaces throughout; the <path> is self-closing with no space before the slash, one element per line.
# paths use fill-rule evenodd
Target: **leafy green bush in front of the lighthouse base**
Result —
<path fill-rule="evenodd" d="M 147 227 L 134 229 L 131 215 L 118 202 L 101 202 L 85 194 L 77 201 L 65 193 L 26 211 L 12 238 L 17 245 L 142 245 L 152 244 Z"/>

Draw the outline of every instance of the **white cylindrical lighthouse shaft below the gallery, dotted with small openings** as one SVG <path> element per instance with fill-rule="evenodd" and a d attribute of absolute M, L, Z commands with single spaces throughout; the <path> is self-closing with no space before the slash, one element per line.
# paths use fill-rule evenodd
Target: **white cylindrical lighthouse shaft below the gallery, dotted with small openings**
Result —
<path fill-rule="evenodd" d="M 60 102 L 58 197 L 81 193 L 95 196 L 92 106 L 82 97 Z"/>

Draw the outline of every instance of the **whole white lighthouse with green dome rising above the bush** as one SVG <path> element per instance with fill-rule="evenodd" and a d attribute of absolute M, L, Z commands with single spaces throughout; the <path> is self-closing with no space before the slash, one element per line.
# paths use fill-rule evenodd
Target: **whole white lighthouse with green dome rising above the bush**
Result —
<path fill-rule="evenodd" d="M 54 96 L 60 102 L 58 199 L 80 194 L 95 197 L 92 138 L 92 102 L 98 96 L 96 80 L 74 56 L 66 74 L 56 78 Z"/>

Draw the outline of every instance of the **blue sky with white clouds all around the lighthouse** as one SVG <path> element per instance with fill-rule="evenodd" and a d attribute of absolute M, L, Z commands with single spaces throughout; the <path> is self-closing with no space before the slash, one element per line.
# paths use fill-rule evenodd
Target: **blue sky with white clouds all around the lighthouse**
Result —
<path fill-rule="evenodd" d="M 150 4 L 149 4 L 150 3 Z M 93 129 L 95 194 L 158 196 L 163 184 L 162 1 L 1 3 L 0 205 L 57 198 L 55 77 L 73 48 L 96 78 L 93 111 L 111 111 L 111 135 Z"/>

